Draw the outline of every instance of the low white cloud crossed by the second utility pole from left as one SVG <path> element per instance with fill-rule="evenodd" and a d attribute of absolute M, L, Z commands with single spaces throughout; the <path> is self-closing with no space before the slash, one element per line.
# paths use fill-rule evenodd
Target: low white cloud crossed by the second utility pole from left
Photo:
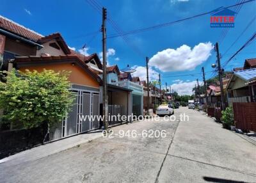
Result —
<path fill-rule="evenodd" d="M 147 69 L 146 67 L 134 65 L 132 68 L 134 68 L 136 71 L 132 73 L 132 77 L 140 77 L 140 81 L 147 80 Z M 152 67 L 148 68 L 148 79 L 149 81 L 158 80 L 159 79 L 159 73 L 156 72 Z"/>

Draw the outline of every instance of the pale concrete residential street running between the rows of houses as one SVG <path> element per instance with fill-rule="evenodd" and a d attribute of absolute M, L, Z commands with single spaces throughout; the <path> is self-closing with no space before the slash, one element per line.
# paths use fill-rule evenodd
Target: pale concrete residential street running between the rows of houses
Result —
<path fill-rule="evenodd" d="M 98 138 L 20 164 L 0 164 L 0 182 L 256 182 L 256 147 L 211 118 L 180 107 L 189 122 L 136 122 L 119 130 L 166 130 L 166 138 Z"/>

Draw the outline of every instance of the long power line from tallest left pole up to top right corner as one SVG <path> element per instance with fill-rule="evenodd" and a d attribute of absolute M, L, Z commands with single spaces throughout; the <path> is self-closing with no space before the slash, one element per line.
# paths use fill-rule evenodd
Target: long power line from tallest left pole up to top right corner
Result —
<path fill-rule="evenodd" d="M 212 10 L 210 12 L 205 12 L 205 13 L 200 13 L 198 15 L 193 15 L 191 17 L 187 17 L 187 18 L 184 18 L 184 19 L 180 19 L 180 20 L 175 20 L 175 21 L 172 21 L 172 22 L 166 22 L 166 23 L 163 23 L 163 24 L 157 24 L 155 26 L 150 26 L 150 27 L 147 27 L 147 28 L 140 28 L 140 29 L 134 29 L 132 31 L 127 31 L 127 32 L 124 32 L 124 33 L 121 33 L 121 34 L 113 34 L 113 35 L 109 35 L 107 38 L 115 38 L 115 37 L 118 37 L 118 36 L 124 36 L 124 35 L 134 35 L 134 34 L 138 34 L 138 33 L 141 33 L 141 32 L 144 32 L 144 31 L 150 31 L 152 29 L 159 29 L 159 28 L 163 28 L 163 27 L 166 27 L 166 26 L 170 26 L 172 24 L 176 24 L 178 22 L 182 22 L 184 20 L 190 20 L 190 19 L 195 19 L 197 17 L 201 17 L 201 16 L 204 16 L 204 15 L 207 15 L 207 14 L 211 14 L 211 13 L 214 13 L 216 12 L 216 10 L 223 10 L 225 8 L 232 8 L 234 6 L 239 6 L 240 4 L 245 4 L 245 3 L 249 3 L 249 2 L 252 2 L 252 1 L 255 1 L 255 0 L 248 0 L 248 1 L 244 1 L 243 3 L 237 3 L 237 4 L 233 4 L 231 6 L 226 6 L 226 7 L 220 7 L 218 9 L 215 9 L 215 10 Z"/>

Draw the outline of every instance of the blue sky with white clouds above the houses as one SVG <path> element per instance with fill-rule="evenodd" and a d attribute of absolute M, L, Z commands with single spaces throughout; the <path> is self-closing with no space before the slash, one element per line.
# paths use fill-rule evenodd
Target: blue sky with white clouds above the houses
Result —
<path fill-rule="evenodd" d="M 130 31 L 208 12 L 220 6 L 236 4 L 239 0 L 97 0 L 97 2 L 108 9 L 108 16 L 116 22 L 122 31 Z M 236 40 L 248 22 L 252 20 L 255 12 L 255 1 L 243 4 L 236 17 L 235 28 L 230 28 L 227 36 L 220 42 L 220 52 L 222 54 Z M 42 35 L 60 32 L 67 41 L 67 44 L 70 47 L 76 48 L 76 51 L 79 51 L 86 44 L 89 54 L 93 52 L 100 54 L 101 52 L 101 34 L 97 33 L 88 36 L 88 33 L 93 33 L 100 29 L 102 17 L 86 0 L 2 0 L 0 15 L 12 19 Z M 145 56 L 148 56 L 151 59 L 151 79 L 156 79 L 157 73 L 160 73 L 163 85 L 166 82 L 168 86 L 172 84 L 172 88 L 178 93 L 191 94 L 191 87 L 195 86 L 196 78 L 201 83 L 202 76 L 170 76 L 198 73 L 201 72 L 202 66 L 205 67 L 205 72 L 212 70 L 211 63 L 216 61 L 216 52 L 214 50 L 209 51 L 209 46 L 220 40 L 222 31 L 223 28 L 210 28 L 210 15 L 205 15 L 161 29 L 126 36 L 129 45 L 121 37 L 109 38 L 107 42 L 109 49 L 108 64 L 117 64 L 119 68 L 124 68 L 129 64 L 137 68 L 136 74 L 138 76 L 145 77 Z M 221 63 L 224 63 L 234 54 L 255 31 L 256 23 L 254 21 L 232 49 L 223 56 Z M 107 34 L 115 33 L 111 24 L 108 23 Z M 200 46 L 194 50 L 193 48 L 196 45 Z M 256 44 L 253 42 L 238 54 L 234 60 L 230 61 L 225 70 L 231 70 L 232 67 L 242 67 L 244 59 L 255 58 L 255 48 Z M 135 52 L 134 49 L 138 49 L 142 56 Z M 211 54 L 211 56 L 207 53 L 197 55 L 198 52 L 200 54 L 204 51 Z M 157 54 L 157 52 L 161 52 L 161 54 Z M 186 56 L 182 57 L 182 54 L 179 55 L 180 58 L 179 56 L 173 58 L 173 56 L 180 54 L 180 52 L 184 52 L 184 55 L 189 52 L 189 58 L 186 58 Z M 170 54 L 171 58 L 166 59 L 164 57 L 166 54 L 167 56 Z M 152 60 L 153 56 L 154 61 Z M 190 57 L 195 57 L 195 59 Z M 207 59 L 205 60 L 205 58 Z M 191 65 L 194 65 L 194 67 Z M 206 78 L 210 76 L 211 73 L 207 73 Z"/>

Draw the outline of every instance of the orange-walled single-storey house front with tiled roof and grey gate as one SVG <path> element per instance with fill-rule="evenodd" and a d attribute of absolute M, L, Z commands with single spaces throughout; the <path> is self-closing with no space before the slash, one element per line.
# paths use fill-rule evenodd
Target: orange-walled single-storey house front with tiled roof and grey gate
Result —
<path fill-rule="evenodd" d="M 19 56 L 13 61 L 13 67 L 21 72 L 26 69 L 71 71 L 70 90 L 75 94 L 74 105 L 68 116 L 56 129 L 51 129 L 50 139 L 60 139 L 81 132 L 99 128 L 99 121 L 79 120 L 81 115 L 99 115 L 100 85 L 102 80 L 86 63 L 76 55 L 65 56 Z"/>

